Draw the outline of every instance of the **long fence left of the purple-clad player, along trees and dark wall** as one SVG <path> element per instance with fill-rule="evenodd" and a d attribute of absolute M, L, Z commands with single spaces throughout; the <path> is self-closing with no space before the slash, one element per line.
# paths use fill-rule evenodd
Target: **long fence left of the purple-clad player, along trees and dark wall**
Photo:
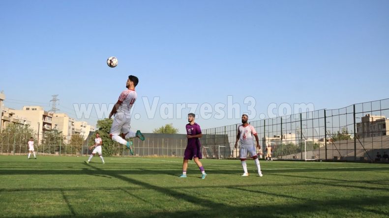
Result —
<path fill-rule="evenodd" d="M 144 134 L 146 140 L 134 139 L 135 156 L 157 156 L 157 157 L 183 157 L 187 139 L 184 134 Z M 83 156 L 89 155 L 88 149 L 94 143 L 94 133 L 91 132 L 86 139 L 80 141 L 66 142 L 61 134 L 31 134 L 19 132 L 0 134 L 0 154 L 2 155 L 26 155 L 29 151 L 27 142 L 33 137 L 34 149 L 38 155 L 68 155 Z M 109 139 L 111 140 L 111 139 Z M 103 141 L 104 143 L 104 141 Z M 104 155 L 103 146 L 103 155 Z M 110 147 L 110 154 L 113 156 L 132 156 L 129 150 L 119 143 L 113 143 Z"/>

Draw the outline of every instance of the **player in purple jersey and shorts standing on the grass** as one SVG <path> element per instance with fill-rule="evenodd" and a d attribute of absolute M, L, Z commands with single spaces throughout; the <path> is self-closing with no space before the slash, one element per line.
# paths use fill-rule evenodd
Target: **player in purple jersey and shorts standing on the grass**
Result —
<path fill-rule="evenodd" d="M 186 138 L 188 138 L 188 144 L 186 145 L 185 153 L 184 153 L 184 161 L 182 164 L 182 174 L 180 178 L 186 178 L 186 169 L 188 168 L 188 161 L 194 160 L 194 162 L 199 167 L 202 175 L 201 179 L 205 179 L 207 173 L 205 173 L 203 164 L 199 161 L 203 156 L 201 155 L 201 144 L 200 139 L 203 134 L 201 133 L 201 129 L 199 124 L 194 122 L 195 114 L 188 114 L 188 124 L 186 124 Z"/>

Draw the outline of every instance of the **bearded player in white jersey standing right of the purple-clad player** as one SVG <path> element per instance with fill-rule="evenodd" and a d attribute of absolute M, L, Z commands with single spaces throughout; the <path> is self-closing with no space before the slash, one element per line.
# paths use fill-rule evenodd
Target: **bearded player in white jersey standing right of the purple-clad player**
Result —
<path fill-rule="evenodd" d="M 254 159 L 255 165 L 258 169 L 258 175 L 262 177 L 261 165 L 259 164 L 256 147 L 261 149 L 259 146 L 259 139 L 257 132 L 254 127 L 247 123 L 248 116 L 246 114 L 242 115 L 242 125 L 238 127 L 237 141 L 235 142 L 235 148 L 238 148 L 238 141 L 240 139 L 240 149 L 239 149 L 239 158 L 242 164 L 244 173 L 242 176 L 248 176 L 246 158 L 247 153 L 250 153 L 250 156 Z M 257 146 L 254 146 L 254 140 L 257 141 Z"/>

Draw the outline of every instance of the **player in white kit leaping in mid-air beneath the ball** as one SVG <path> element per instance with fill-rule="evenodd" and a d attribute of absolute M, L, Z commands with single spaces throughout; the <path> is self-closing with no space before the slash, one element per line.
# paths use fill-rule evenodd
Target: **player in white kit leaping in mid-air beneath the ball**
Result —
<path fill-rule="evenodd" d="M 131 154 L 134 154 L 132 147 L 132 141 L 127 141 L 126 139 L 138 137 L 142 141 L 145 140 L 145 136 L 141 131 L 136 133 L 131 131 L 131 108 L 134 105 L 137 94 L 135 92 L 135 86 L 138 84 L 139 80 L 135 76 L 128 76 L 125 87 L 126 90 L 122 91 L 119 96 L 118 102 L 115 104 L 109 118 L 115 115 L 114 121 L 111 126 L 110 137 L 112 140 L 119 142 L 120 144 L 126 145 L 130 149 Z M 121 136 L 120 136 L 121 133 Z"/>

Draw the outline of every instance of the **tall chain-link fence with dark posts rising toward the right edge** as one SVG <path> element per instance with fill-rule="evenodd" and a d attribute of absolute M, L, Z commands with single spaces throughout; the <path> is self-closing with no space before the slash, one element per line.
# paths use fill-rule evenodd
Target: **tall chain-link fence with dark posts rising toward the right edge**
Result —
<path fill-rule="evenodd" d="M 387 161 L 388 117 L 389 99 L 383 99 L 341 109 L 250 121 L 250 124 L 258 132 L 261 150 L 266 154 L 266 146 L 270 145 L 276 159 Z M 234 148 L 238 126 L 203 130 L 202 145 L 212 151 L 213 158 L 239 158 L 239 149 Z M 219 157 L 215 155 L 218 152 L 222 153 Z"/>

